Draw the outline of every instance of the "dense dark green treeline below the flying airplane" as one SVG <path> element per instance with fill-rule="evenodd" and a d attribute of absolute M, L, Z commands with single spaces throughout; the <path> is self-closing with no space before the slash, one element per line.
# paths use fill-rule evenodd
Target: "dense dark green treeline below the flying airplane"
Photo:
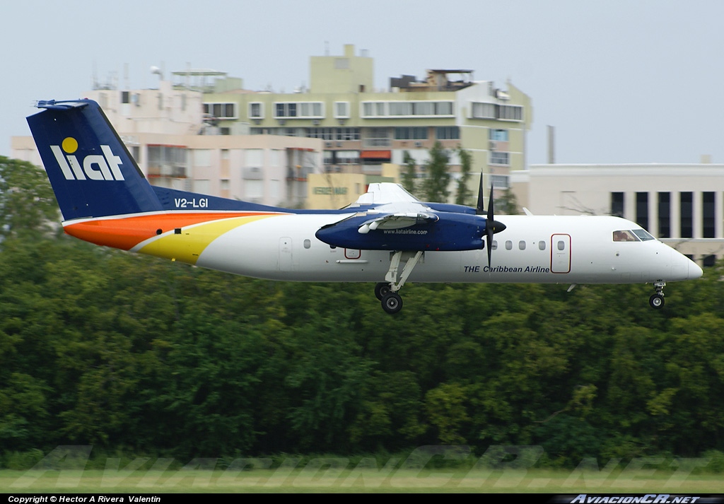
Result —
<path fill-rule="evenodd" d="M 406 285 L 390 316 L 371 285 L 235 277 L 35 224 L 0 233 L 0 455 L 724 450 L 720 267 L 660 311 L 650 285 Z"/>

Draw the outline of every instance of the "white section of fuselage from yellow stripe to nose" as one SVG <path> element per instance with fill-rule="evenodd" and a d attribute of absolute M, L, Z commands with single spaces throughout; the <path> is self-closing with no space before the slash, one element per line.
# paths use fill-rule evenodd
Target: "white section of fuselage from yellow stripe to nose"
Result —
<path fill-rule="evenodd" d="M 345 217 L 285 214 L 249 222 L 212 240 L 196 264 L 271 280 L 384 280 L 392 252 L 333 248 L 315 238 L 320 227 Z M 614 241 L 613 232 L 640 228 L 618 217 L 500 218 L 508 228 L 494 235 L 491 267 L 485 250 L 430 250 L 410 281 L 617 284 L 673 282 L 702 274 L 693 261 L 658 240 Z M 187 230 L 193 232 L 193 227 Z"/>

